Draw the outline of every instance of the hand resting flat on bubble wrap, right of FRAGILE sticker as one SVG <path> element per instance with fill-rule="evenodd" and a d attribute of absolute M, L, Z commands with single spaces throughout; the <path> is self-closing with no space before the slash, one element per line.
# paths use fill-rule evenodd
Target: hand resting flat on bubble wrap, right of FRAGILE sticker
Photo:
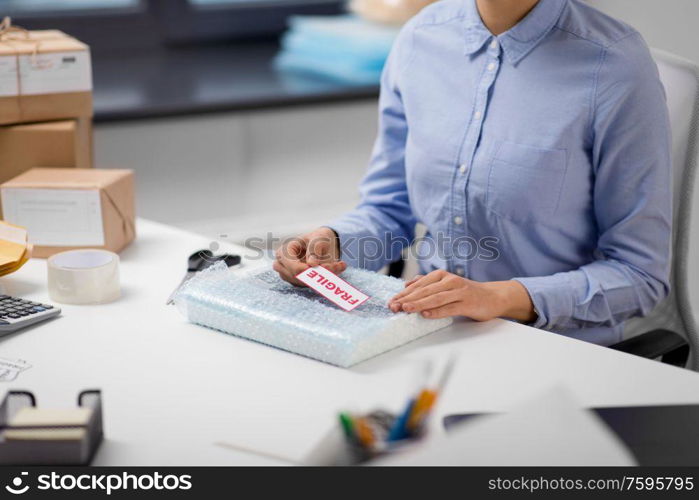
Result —
<path fill-rule="evenodd" d="M 443 270 L 416 276 L 388 306 L 393 312 L 417 312 L 430 319 L 449 316 L 467 316 L 476 321 L 511 318 L 531 322 L 536 319 L 534 305 L 521 283 L 480 283 Z"/>

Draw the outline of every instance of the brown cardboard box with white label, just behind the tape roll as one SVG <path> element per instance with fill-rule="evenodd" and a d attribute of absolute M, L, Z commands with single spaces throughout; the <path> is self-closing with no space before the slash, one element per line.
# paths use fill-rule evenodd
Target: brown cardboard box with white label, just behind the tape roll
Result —
<path fill-rule="evenodd" d="M 0 185 L 5 220 L 26 227 L 34 257 L 119 252 L 136 236 L 131 170 L 33 168 Z"/>

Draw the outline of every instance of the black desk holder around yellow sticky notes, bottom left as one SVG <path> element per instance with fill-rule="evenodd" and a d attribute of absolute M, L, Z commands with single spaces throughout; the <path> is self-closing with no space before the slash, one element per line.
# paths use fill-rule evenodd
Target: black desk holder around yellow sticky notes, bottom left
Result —
<path fill-rule="evenodd" d="M 0 465 L 88 465 L 102 442 L 102 397 L 99 390 L 78 395 L 78 406 L 92 410 L 84 425 L 12 426 L 25 407 L 36 407 L 31 392 L 9 391 L 0 404 Z M 8 439 L 7 431 L 85 429 L 81 439 Z"/>

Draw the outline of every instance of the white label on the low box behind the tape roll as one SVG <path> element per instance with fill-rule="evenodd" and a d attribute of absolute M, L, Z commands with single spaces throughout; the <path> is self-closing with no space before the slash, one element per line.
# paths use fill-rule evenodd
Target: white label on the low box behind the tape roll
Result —
<path fill-rule="evenodd" d="M 102 246 L 104 226 L 98 189 L 2 189 L 7 220 L 27 228 L 43 246 Z"/>

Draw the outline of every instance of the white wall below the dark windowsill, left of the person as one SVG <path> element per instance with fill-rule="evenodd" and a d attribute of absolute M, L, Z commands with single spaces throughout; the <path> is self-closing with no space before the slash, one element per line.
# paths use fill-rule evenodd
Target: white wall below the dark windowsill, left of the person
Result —
<path fill-rule="evenodd" d="M 141 217 L 211 238 L 284 237 L 356 203 L 375 135 L 372 99 L 127 121 L 95 127 L 95 162 L 135 170 Z"/>

